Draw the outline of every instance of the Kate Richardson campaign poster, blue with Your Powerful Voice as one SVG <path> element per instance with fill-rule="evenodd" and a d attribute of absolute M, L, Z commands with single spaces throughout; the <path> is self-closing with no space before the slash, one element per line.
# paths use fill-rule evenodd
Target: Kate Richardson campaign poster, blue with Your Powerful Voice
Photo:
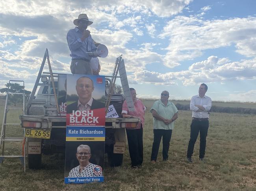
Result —
<path fill-rule="evenodd" d="M 65 184 L 104 181 L 105 128 L 67 126 Z"/>

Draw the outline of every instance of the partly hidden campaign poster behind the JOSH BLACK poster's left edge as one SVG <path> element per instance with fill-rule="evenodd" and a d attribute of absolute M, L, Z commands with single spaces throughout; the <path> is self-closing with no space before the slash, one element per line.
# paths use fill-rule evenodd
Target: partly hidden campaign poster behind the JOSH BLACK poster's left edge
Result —
<path fill-rule="evenodd" d="M 67 75 L 59 75 L 58 78 L 58 105 L 61 116 L 66 116 L 67 111 Z"/>

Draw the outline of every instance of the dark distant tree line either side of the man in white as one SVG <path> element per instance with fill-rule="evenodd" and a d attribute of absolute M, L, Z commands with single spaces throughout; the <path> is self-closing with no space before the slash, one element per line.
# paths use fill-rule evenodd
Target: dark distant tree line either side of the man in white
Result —
<path fill-rule="evenodd" d="M 190 110 L 189 104 L 176 104 L 178 110 Z M 253 114 L 256 115 L 256 109 L 253 108 L 243 108 L 243 107 L 221 107 L 221 106 L 211 106 L 210 112 L 217 113 L 239 113 L 239 114 Z"/>

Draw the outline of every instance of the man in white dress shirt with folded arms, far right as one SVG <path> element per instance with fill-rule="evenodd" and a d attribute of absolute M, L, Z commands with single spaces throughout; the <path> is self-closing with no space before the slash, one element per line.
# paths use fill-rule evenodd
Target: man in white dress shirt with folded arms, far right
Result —
<path fill-rule="evenodd" d="M 192 122 L 190 125 L 190 139 L 187 147 L 187 161 L 192 162 L 192 155 L 197 141 L 198 133 L 200 132 L 200 149 L 199 160 L 204 161 L 206 136 L 209 127 L 209 111 L 211 109 L 211 98 L 205 93 L 208 87 L 206 84 L 201 84 L 198 90 L 198 95 L 191 98 L 190 110 L 192 110 Z"/>

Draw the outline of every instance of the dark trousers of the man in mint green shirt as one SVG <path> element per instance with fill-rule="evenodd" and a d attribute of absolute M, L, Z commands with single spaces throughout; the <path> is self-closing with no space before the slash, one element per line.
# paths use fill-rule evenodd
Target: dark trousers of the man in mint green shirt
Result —
<path fill-rule="evenodd" d="M 171 129 L 170 130 L 154 129 L 154 142 L 152 146 L 151 160 L 156 161 L 162 136 L 163 136 L 163 151 L 162 151 L 163 160 L 168 160 L 168 151 L 170 147 L 172 132 L 173 130 Z"/>

